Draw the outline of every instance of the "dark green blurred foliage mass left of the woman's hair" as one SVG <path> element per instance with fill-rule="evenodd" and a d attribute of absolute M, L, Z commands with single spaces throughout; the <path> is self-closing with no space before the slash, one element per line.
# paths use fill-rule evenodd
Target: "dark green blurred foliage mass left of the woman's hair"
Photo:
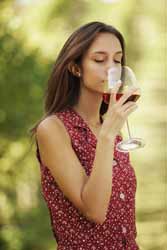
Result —
<path fill-rule="evenodd" d="M 0 134 L 6 139 L 25 136 L 27 125 L 38 116 L 49 65 L 40 61 L 38 50 L 27 54 L 24 39 L 15 36 L 6 24 L 0 27 Z"/>

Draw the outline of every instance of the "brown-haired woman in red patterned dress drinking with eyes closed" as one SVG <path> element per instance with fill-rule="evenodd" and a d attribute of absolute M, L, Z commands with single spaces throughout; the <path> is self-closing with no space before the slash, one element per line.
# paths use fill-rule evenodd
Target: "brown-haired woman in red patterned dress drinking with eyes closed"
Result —
<path fill-rule="evenodd" d="M 136 250 L 136 178 L 128 153 L 116 151 L 119 131 L 137 108 L 103 102 L 107 71 L 125 64 L 124 39 L 110 25 L 91 22 L 62 48 L 33 129 L 43 196 L 58 250 Z M 104 115 L 105 114 L 105 119 Z"/>

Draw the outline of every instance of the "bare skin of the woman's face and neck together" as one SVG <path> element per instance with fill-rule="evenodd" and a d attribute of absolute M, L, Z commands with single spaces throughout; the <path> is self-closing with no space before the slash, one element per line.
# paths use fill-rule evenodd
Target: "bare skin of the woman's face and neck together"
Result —
<path fill-rule="evenodd" d="M 99 112 L 107 71 L 113 66 L 121 67 L 121 58 L 121 44 L 118 38 L 111 33 L 99 33 L 83 57 L 79 69 L 81 95 L 77 105 L 73 108 L 89 125 L 91 124 L 90 126 L 99 124 Z"/>

